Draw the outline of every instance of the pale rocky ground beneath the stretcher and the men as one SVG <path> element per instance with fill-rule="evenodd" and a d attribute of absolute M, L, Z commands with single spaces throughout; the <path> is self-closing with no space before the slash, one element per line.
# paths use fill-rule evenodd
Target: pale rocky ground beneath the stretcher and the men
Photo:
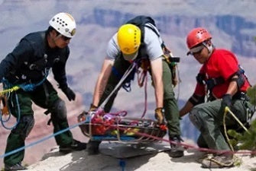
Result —
<path fill-rule="evenodd" d="M 205 156 L 204 153 L 195 149 L 185 151 L 184 157 L 171 158 L 168 154 L 167 144 L 154 144 L 149 147 L 135 147 L 125 144 L 104 143 L 100 146 L 100 154 L 88 155 L 87 152 L 78 151 L 66 155 L 61 155 L 57 147 L 50 153 L 45 154 L 42 160 L 31 166 L 30 171 L 203 171 L 200 160 Z M 254 170 L 255 160 L 248 155 L 239 154 L 241 166 L 227 168 L 228 171 Z M 214 169 L 215 171 L 223 169 Z"/>

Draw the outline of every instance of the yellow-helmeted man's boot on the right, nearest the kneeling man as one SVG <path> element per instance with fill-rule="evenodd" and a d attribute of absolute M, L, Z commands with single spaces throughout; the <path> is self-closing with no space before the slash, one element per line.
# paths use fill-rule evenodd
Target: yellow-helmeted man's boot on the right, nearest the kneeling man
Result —
<path fill-rule="evenodd" d="M 177 158 L 184 156 L 184 148 L 180 146 L 180 141 L 183 141 L 180 138 L 180 135 L 170 135 L 170 157 Z M 173 144 L 175 143 L 175 144 Z"/>

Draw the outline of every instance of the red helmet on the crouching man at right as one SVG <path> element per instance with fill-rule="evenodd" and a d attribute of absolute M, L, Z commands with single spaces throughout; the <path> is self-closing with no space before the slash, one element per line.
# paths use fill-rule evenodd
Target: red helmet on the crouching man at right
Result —
<path fill-rule="evenodd" d="M 190 31 L 190 33 L 186 36 L 186 45 L 189 49 L 194 46 L 203 43 L 206 40 L 211 39 L 211 34 L 202 27 L 197 27 Z"/>

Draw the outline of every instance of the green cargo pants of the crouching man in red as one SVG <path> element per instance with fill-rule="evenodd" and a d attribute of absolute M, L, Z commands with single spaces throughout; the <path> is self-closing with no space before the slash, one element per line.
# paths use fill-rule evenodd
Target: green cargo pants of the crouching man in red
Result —
<path fill-rule="evenodd" d="M 199 147 L 209 147 L 215 150 L 229 150 L 229 146 L 223 136 L 223 116 L 224 109 L 222 109 L 222 100 L 214 100 L 209 103 L 202 103 L 190 112 L 190 120 L 199 129 L 201 135 L 197 144 Z M 245 123 L 247 119 L 247 107 L 251 106 L 245 100 L 232 100 L 232 112 L 242 122 Z M 238 122 L 227 113 L 225 117 L 226 126 L 238 125 Z"/>

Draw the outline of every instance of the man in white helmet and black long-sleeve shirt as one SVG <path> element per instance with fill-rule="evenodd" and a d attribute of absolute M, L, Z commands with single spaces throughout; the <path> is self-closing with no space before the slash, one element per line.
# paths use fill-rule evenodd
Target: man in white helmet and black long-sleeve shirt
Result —
<path fill-rule="evenodd" d="M 34 126 L 32 102 L 47 109 L 46 114 L 51 113 L 54 132 L 69 127 L 66 104 L 46 78 L 52 68 L 59 88 L 68 100 L 75 100 L 76 94 L 66 83 L 65 66 L 70 55 L 68 44 L 76 33 L 76 21 L 70 14 L 59 13 L 53 16 L 49 24 L 47 30 L 24 36 L 18 46 L 0 63 L 0 81 L 5 88 L 15 85 L 21 87 L 8 96 L 11 115 L 20 119 L 8 136 L 5 153 L 24 146 L 24 141 Z M 63 153 L 86 149 L 86 143 L 74 140 L 70 131 L 57 135 L 55 140 Z M 23 159 L 24 150 L 6 156 L 5 170 L 26 169 L 21 165 Z"/>

